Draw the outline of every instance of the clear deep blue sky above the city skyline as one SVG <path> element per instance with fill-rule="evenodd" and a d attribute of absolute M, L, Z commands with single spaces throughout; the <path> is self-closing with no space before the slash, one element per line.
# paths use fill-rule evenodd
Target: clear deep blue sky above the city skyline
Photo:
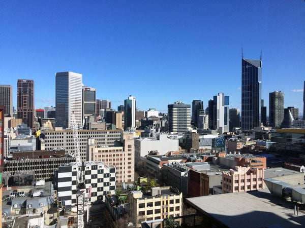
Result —
<path fill-rule="evenodd" d="M 83 74 L 114 108 L 141 110 L 219 92 L 240 108 L 241 46 L 263 51 L 262 98 L 285 92 L 302 112 L 305 2 L 9 1 L 0 6 L 0 84 L 35 81 L 36 108 L 55 105 L 55 72 Z M 301 91 L 301 92 L 296 92 Z"/>

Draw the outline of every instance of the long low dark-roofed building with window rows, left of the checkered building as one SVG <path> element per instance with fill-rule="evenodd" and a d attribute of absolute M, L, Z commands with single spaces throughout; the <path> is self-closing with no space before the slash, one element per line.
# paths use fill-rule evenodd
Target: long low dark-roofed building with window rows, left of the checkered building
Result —
<path fill-rule="evenodd" d="M 75 162 L 75 158 L 66 157 L 65 154 L 65 150 L 14 152 L 8 155 L 4 171 L 11 176 L 22 171 L 32 171 L 36 180 L 53 180 L 54 171 L 59 166 Z"/>

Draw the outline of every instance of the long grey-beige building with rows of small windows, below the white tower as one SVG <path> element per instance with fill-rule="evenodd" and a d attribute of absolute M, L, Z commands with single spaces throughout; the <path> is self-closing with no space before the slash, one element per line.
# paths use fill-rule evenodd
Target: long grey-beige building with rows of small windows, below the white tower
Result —
<path fill-rule="evenodd" d="M 80 147 L 80 156 L 82 161 L 86 161 L 86 145 L 88 138 L 94 138 L 97 145 L 112 146 L 120 141 L 120 135 L 123 130 L 78 130 L 78 140 Z M 63 148 L 68 154 L 75 151 L 73 142 L 73 131 L 56 128 L 54 131 L 45 131 L 45 148 L 52 150 L 54 148 Z"/>

